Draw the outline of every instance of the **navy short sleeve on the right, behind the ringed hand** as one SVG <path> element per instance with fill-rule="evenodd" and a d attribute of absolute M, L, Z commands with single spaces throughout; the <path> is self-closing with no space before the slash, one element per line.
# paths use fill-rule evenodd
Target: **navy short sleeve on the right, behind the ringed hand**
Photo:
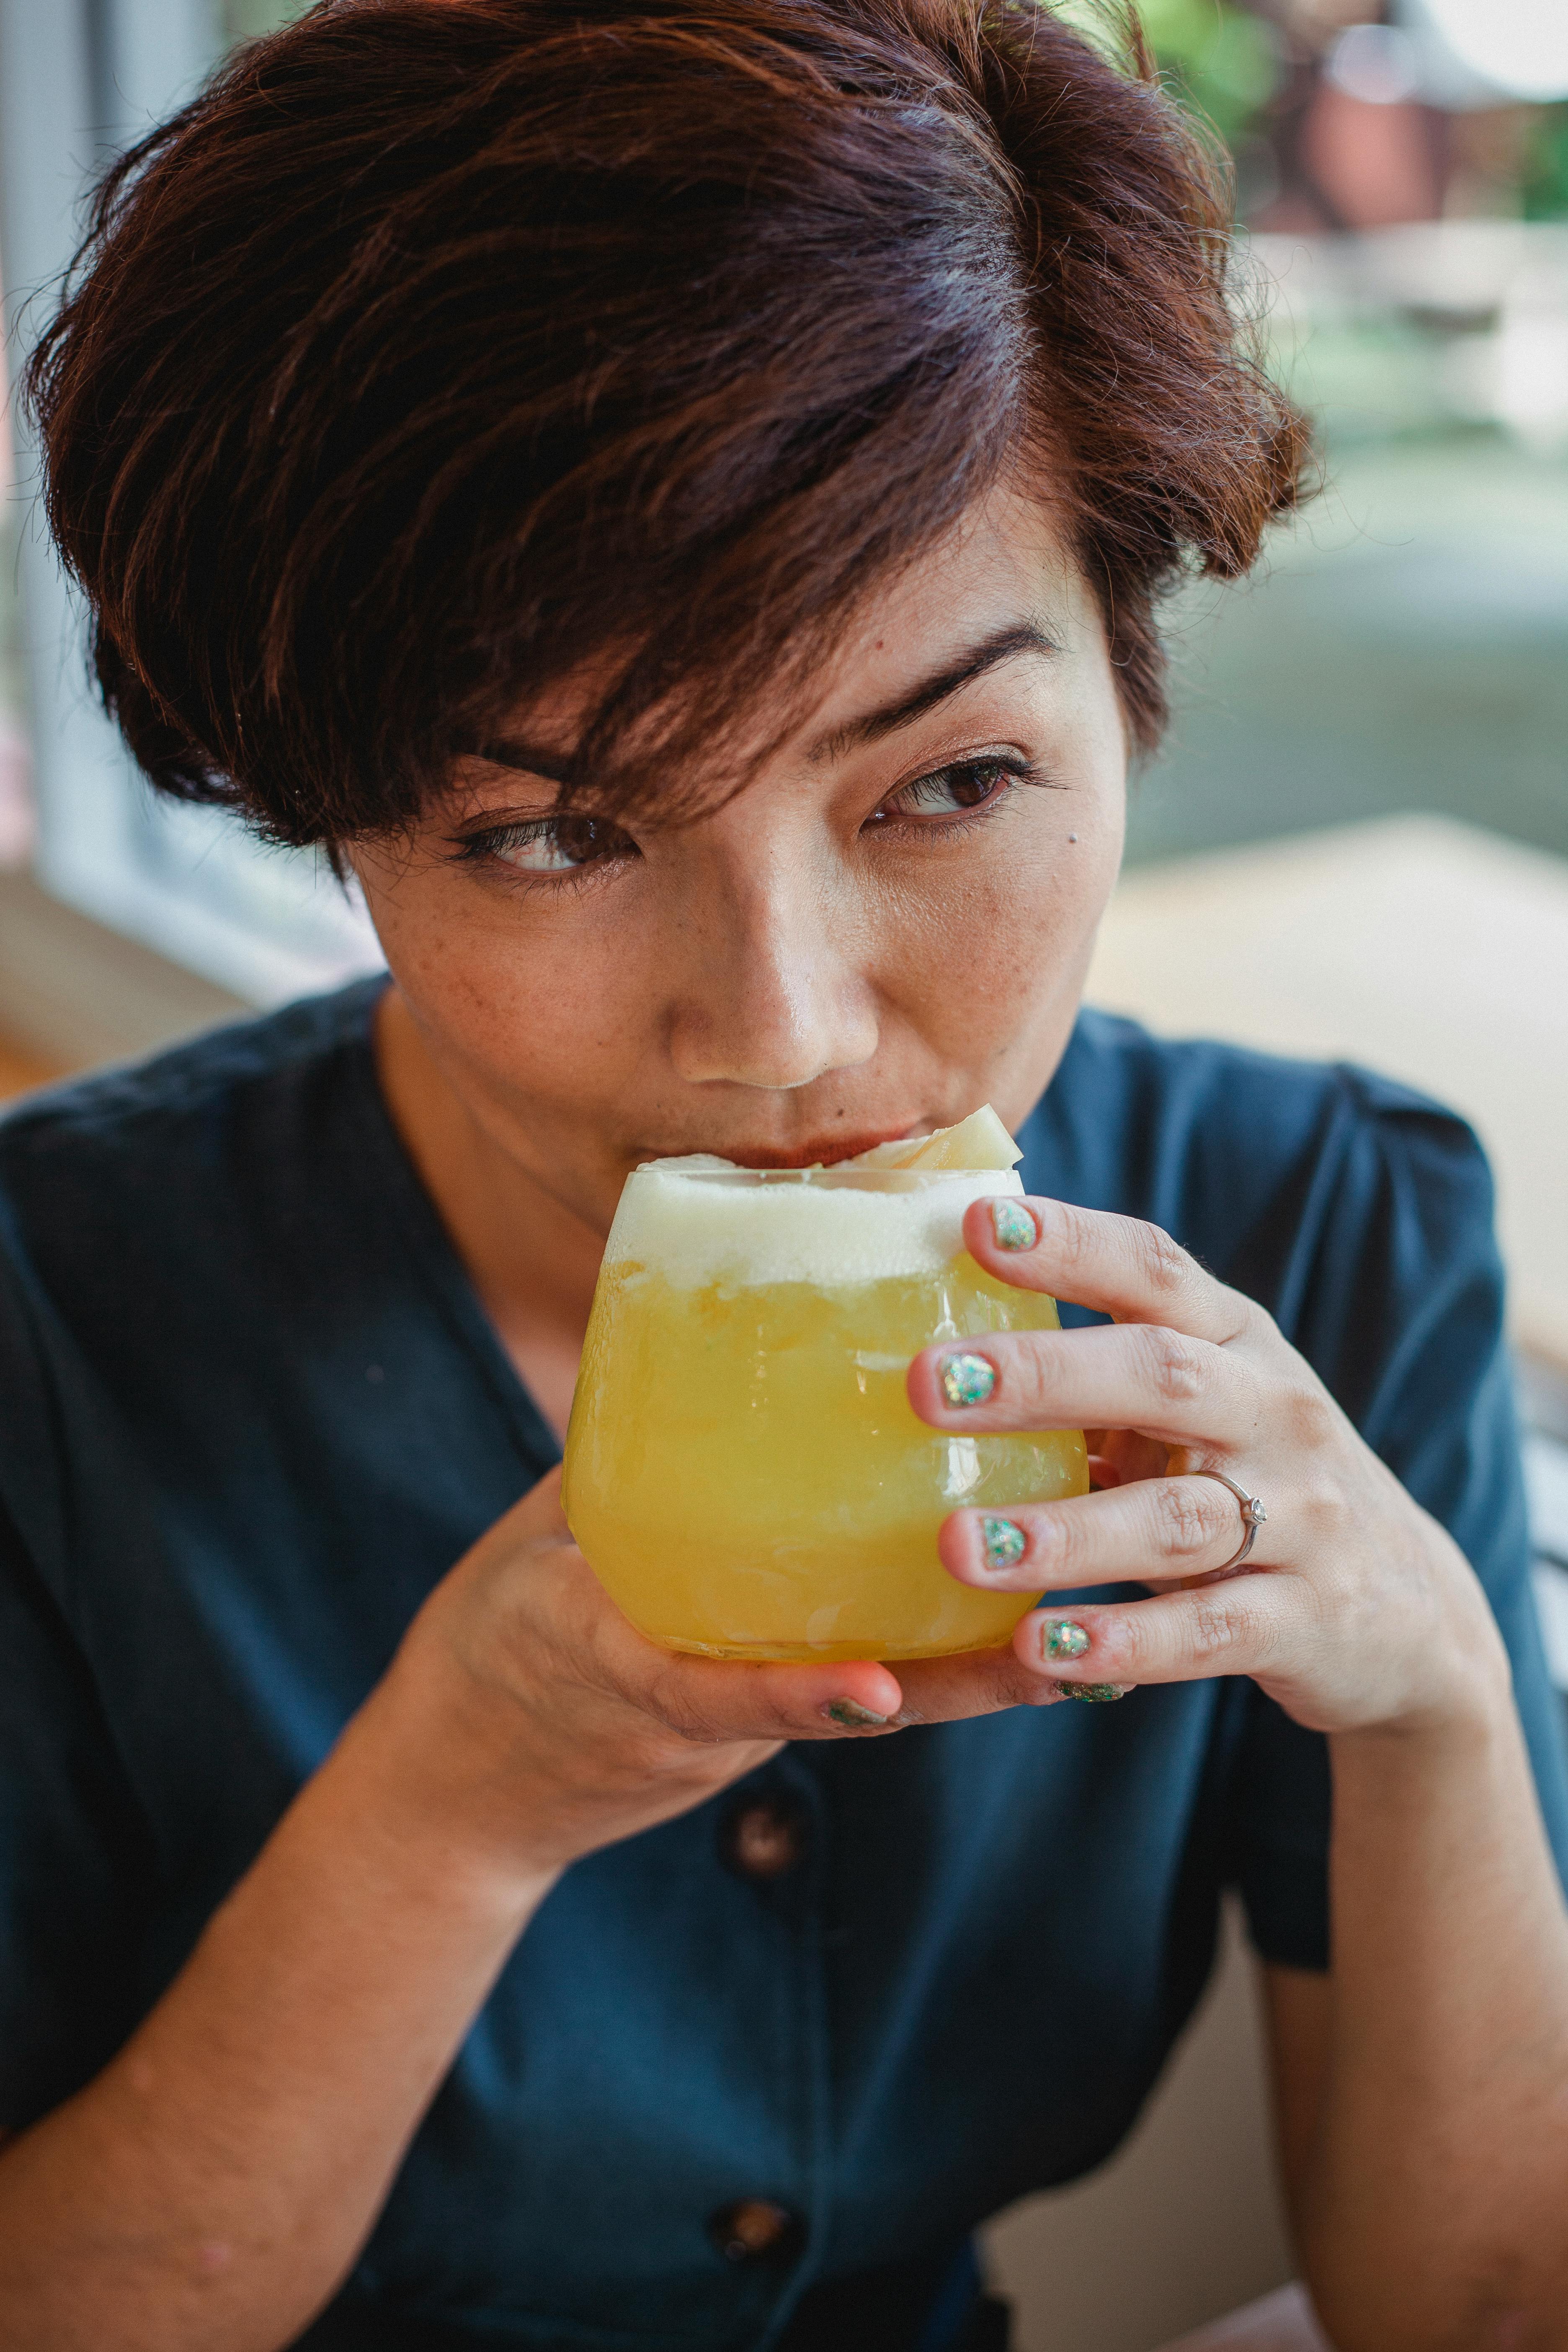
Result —
<path fill-rule="evenodd" d="M 1448 1112 L 1356 1070 L 1340 1073 L 1340 1087 L 1333 1148 L 1272 1305 L 1373 1451 L 1479 1576 L 1509 1651 L 1559 1877 L 1568 1879 L 1563 1729 L 1530 1588 L 1490 1171 L 1472 1131 Z M 1326 1969 L 1326 1740 L 1253 1684 L 1237 1705 L 1229 1875 L 1265 1959 Z"/>

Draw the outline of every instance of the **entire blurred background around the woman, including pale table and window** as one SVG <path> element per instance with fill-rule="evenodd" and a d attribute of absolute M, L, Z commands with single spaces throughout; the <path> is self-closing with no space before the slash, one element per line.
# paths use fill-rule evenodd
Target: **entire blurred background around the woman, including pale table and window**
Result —
<path fill-rule="evenodd" d="M 12 372 L 89 174 L 292 14 L 0 0 Z M 1251 586 L 1171 616 L 1175 727 L 1135 786 L 1093 993 L 1378 1063 L 1474 1117 L 1568 1684 L 1568 0 L 1140 14 L 1234 158 L 1239 299 L 1321 419 L 1324 494 Z M 141 790 L 14 428 L 0 492 L 0 1091 L 374 967 L 315 858 Z M 1023 2352 L 1152 2352 L 1288 2277 L 1234 1933 L 1126 2154 L 1006 2218 L 990 2258 Z"/>

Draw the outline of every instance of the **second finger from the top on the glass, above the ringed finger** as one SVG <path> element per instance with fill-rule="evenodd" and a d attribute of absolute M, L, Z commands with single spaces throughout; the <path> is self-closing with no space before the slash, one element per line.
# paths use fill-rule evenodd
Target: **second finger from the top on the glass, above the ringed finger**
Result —
<path fill-rule="evenodd" d="M 910 1404 L 938 1430 L 1081 1430 L 1114 1423 L 1161 1444 L 1241 1442 L 1258 1418 L 1248 1364 L 1164 1324 L 987 1331 L 910 1364 Z"/>

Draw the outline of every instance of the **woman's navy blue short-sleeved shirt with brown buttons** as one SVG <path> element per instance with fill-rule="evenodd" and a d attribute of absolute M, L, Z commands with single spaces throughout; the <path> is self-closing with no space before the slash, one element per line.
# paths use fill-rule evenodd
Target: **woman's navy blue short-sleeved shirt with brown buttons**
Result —
<path fill-rule="evenodd" d="M 383 1110 L 374 995 L 0 1124 L 0 2124 L 120 2046 L 555 1458 Z M 1260 1298 L 1453 1529 L 1566 1856 L 1469 1131 L 1084 1014 L 1020 1141 L 1030 1190 Z M 771 1879 L 726 1842 L 759 1799 L 799 1846 Z M 564 1875 L 308 2340 L 741 2352 L 832 2281 L 926 2279 L 1126 2133 L 1227 1884 L 1267 1959 L 1326 1964 L 1326 1849 L 1324 1743 L 1248 1682 L 790 1748 Z M 710 2230 L 745 2197 L 797 2216 L 766 2260 Z"/>

